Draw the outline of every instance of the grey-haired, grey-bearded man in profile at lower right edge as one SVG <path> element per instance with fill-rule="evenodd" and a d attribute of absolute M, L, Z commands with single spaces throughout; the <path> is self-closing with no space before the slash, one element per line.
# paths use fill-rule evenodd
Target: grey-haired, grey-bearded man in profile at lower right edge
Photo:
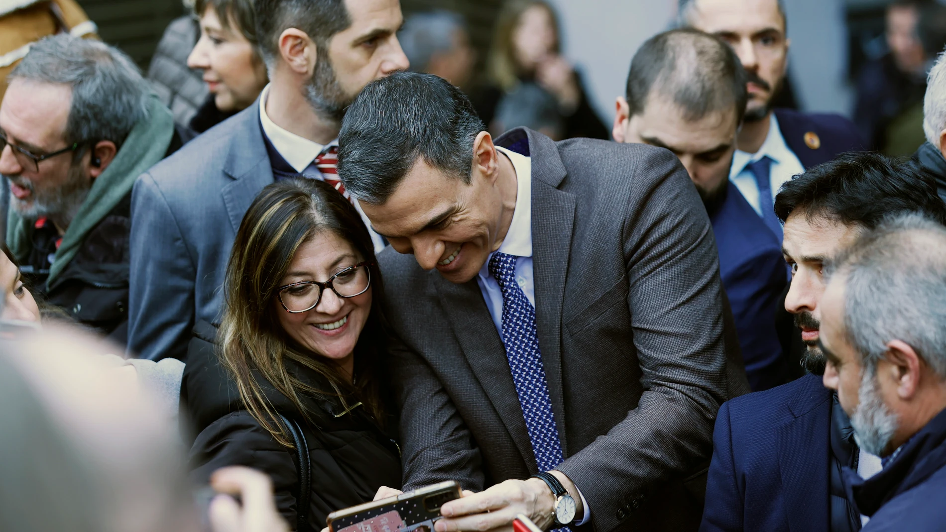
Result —
<path fill-rule="evenodd" d="M 830 268 L 822 298 L 824 385 L 854 438 L 883 456 L 861 478 L 845 469 L 865 532 L 942 530 L 946 506 L 946 228 L 920 215 L 888 220 Z"/>

